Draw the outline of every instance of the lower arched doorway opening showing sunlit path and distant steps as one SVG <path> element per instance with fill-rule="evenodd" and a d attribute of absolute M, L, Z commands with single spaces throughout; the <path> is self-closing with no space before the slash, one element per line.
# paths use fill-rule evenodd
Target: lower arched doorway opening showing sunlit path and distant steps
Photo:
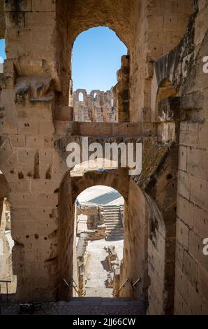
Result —
<path fill-rule="evenodd" d="M 78 295 L 114 297 L 118 294 L 124 247 L 124 198 L 107 186 L 87 188 L 75 201 L 77 262 L 73 278 Z M 73 295 L 77 291 L 73 290 Z"/>

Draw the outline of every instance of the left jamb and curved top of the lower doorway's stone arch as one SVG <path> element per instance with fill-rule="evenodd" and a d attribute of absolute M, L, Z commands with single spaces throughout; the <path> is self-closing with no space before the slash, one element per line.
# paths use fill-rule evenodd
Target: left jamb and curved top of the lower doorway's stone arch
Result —
<path fill-rule="evenodd" d="M 63 279 L 73 279 L 73 249 L 74 249 L 74 204 L 83 190 L 91 186 L 110 186 L 117 190 L 128 202 L 129 176 L 126 169 L 112 169 L 106 172 L 86 172 L 84 176 L 70 177 L 67 172 L 59 190 L 59 253 L 60 279 L 58 299 L 67 299 L 72 295 L 64 286 Z M 125 233 L 125 232 L 124 232 Z M 61 282 L 62 281 L 62 282 Z"/>

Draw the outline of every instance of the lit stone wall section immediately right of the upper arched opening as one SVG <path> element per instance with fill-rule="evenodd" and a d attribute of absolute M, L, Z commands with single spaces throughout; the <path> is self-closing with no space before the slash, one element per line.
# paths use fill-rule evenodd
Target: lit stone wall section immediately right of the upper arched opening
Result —
<path fill-rule="evenodd" d="M 193 0 L 135 1 L 132 4 L 130 52 L 130 118 L 151 123 L 150 85 L 156 59 L 172 50 L 184 36 L 193 13 Z"/>

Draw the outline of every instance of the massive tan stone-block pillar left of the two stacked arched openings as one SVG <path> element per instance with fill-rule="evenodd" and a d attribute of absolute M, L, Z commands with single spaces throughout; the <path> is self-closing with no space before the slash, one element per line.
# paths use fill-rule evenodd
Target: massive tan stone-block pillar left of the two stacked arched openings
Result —
<path fill-rule="evenodd" d="M 61 285 L 58 192 L 66 164 L 56 151 L 53 115 L 68 105 L 68 97 L 60 96 L 57 67 L 59 12 L 50 0 L 6 1 L 4 10 L 7 59 L 1 102 L 6 111 L 0 162 L 11 190 L 17 298 L 55 300 Z"/>

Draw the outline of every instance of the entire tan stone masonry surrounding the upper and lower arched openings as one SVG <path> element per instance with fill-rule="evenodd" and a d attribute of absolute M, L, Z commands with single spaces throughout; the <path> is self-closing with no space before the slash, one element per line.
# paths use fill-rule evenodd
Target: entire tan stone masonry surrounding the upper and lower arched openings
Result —
<path fill-rule="evenodd" d="M 142 278 L 121 295 L 147 301 L 147 314 L 208 314 L 207 1 L 8 0 L 0 11 L 0 170 L 17 299 L 70 298 L 63 278 L 73 276 L 74 202 L 99 184 L 125 200 L 121 283 Z M 73 121 L 73 42 L 97 26 L 128 47 L 116 123 Z M 66 145 L 83 136 L 142 141 L 142 174 L 118 168 L 71 178 Z"/>

